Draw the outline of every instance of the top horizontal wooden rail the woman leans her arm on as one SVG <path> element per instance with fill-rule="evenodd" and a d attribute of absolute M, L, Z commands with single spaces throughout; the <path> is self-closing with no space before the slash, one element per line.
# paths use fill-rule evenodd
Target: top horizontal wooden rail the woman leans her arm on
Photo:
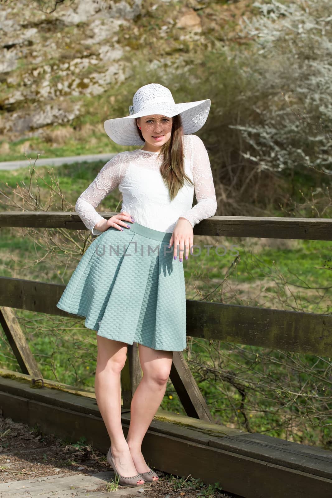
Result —
<path fill-rule="evenodd" d="M 103 212 L 111 218 L 117 213 Z M 2 211 L 0 227 L 67 228 L 87 230 L 76 212 Z M 259 216 L 212 216 L 195 225 L 195 235 L 263 237 L 268 239 L 332 240 L 332 219 Z"/>

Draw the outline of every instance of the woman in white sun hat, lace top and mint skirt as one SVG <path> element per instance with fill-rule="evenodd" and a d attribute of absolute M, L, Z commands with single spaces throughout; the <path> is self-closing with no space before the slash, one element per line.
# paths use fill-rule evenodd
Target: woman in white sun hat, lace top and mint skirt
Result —
<path fill-rule="evenodd" d="M 171 92 L 155 83 L 139 88 L 129 116 L 104 127 L 116 143 L 143 147 L 116 154 L 75 205 L 99 237 L 57 307 L 86 318 L 85 326 L 97 332 L 95 392 L 111 439 L 107 459 L 126 486 L 158 480 L 141 443 L 165 394 L 173 351 L 187 346 L 182 260 L 193 246 L 194 225 L 217 210 L 207 150 L 191 134 L 206 122 L 210 105 L 209 99 L 175 104 Z M 106 220 L 95 208 L 117 186 L 121 212 Z M 192 207 L 194 188 L 198 203 Z M 143 377 L 125 439 L 120 371 L 133 342 Z"/>

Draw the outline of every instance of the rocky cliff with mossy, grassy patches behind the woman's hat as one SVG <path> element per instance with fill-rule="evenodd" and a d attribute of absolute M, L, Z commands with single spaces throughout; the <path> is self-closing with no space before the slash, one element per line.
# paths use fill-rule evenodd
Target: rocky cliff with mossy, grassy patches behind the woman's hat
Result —
<path fill-rule="evenodd" d="M 2 140 L 70 124 L 89 100 L 132 81 L 138 60 L 146 83 L 151 69 L 184 72 L 199 64 L 207 50 L 236 41 L 238 19 L 251 0 L 81 0 L 53 11 L 51 5 L 17 0 L 1 6 Z"/>

